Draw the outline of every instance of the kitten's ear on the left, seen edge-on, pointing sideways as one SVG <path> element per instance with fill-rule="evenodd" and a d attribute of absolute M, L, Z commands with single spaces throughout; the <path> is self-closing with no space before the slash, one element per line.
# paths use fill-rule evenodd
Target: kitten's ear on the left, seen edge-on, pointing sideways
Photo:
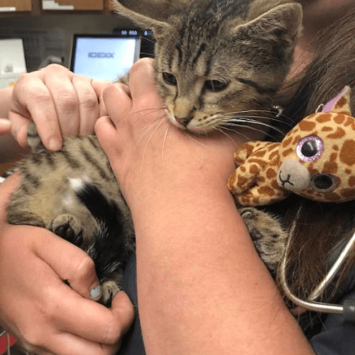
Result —
<path fill-rule="evenodd" d="M 133 2 L 133 1 L 131 1 L 131 2 Z M 133 4 L 135 2 L 133 2 Z M 138 13 L 138 12 L 134 11 L 133 9 L 131 9 L 132 6 L 130 6 L 131 3 L 129 1 L 122 1 L 122 3 L 124 3 L 124 4 L 121 4 L 121 2 L 116 1 L 116 0 L 112 1 L 112 8 L 114 9 L 114 11 L 116 13 L 119 13 L 122 16 L 125 16 L 125 17 L 131 19 L 134 23 L 136 23 L 141 28 L 152 29 L 154 32 L 155 38 L 163 36 L 172 27 L 169 23 L 167 23 L 165 21 L 160 21 L 160 20 L 157 20 L 153 17 L 150 17 L 149 15 L 146 16 L 146 15 L 143 15 L 142 13 Z M 133 6 L 133 8 L 134 8 L 134 6 Z"/>

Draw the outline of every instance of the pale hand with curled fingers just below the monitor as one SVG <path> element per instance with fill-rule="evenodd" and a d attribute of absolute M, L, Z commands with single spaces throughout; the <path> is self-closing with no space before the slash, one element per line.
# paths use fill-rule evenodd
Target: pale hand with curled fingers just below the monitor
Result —
<path fill-rule="evenodd" d="M 57 64 L 21 75 L 9 111 L 12 135 L 20 146 L 27 146 L 28 124 L 33 120 L 45 147 L 56 151 L 62 137 L 92 133 L 100 116 L 95 90 L 109 84 Z"/>

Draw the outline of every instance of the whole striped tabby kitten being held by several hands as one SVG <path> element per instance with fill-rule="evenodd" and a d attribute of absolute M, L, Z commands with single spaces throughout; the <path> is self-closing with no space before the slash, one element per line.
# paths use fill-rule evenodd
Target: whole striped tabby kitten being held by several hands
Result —
<path fill-rule="evenodd" d="M 146 1 L 139 4 L 151 8 Z M 163 5 L 163 1 L 154 4 Z M 258 123 L 250 110 L 266 111 L 275 102 L 293 60 L 302 18 L 300 5 L 284 0 L 194 0 L 184 9 L 175 6 L 165 20 L 119 3 L 115 8 L 153 29 L 155 73 L 168 119 L 196 133 L 242 131 Z M 129 207 L 109 161 L 94 136 L 67 138 L 62 149 L 53 153 L 45 150 L 31 125 L 28 140 L 33 155 L 18 166 L 21 186 L 7 210 L 9 223 L 44 227 L 82 247 L 94 260 L 100 256 L 103 302 L 109 304 L 119 289 L 122 263 L 134 245 Z M 109 217 L 98 214 L 94 204 L 82 198 L 83 191 L 94 196 L 91 201 L 101 201 Z M 111 216 L 116 213 L 112 206 L 119 212 L 116 219 Z M 241 214 L 261 257 L 275 270 L 286 237 L 278 222 L 256 209 L 244 209 Z M 120 226 L 116 244 L 124 249 L 122 260 L 105 260 L 107 246 L 102 236 L 113 227 L 112 220 Z"/>

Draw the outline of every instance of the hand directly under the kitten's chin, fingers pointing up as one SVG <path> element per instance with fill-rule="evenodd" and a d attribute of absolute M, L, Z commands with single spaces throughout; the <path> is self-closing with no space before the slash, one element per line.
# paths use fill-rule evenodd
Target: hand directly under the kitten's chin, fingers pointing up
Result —
<path fill-rule="evenodd" d="M 189 187 L 201 175 L 207 183 L 216 178 L 226 186 L 241 139 L 192 136 L 170 124 L 155 85 L 153 60 L 136 62 L 129 87 L 111 84 L 103 99 L 109 116 L 97 121 L 95 132 L 130 207 L 133 200 L 142 204 L 171 191 L 174 183 Z"/>

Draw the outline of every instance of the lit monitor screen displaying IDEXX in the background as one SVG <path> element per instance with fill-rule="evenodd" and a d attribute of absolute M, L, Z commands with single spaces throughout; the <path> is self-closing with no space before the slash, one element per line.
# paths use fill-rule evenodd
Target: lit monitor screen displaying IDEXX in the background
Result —
<path fill-rule="evenodd" d="M 70 70 L 115 81 L 138 60 L 140 49 L 138 35 L 74 35 Z"/>

